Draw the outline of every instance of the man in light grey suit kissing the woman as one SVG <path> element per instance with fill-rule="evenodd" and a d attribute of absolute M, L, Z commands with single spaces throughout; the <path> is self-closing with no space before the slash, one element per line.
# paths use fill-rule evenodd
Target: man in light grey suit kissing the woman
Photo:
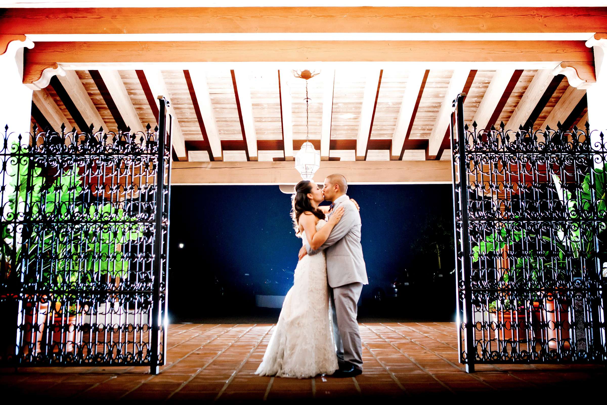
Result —
<path fill-rule="evenodd" d="M 362 285 L 368 284 L 365 260 L 361 246 L 361 216 L 345 193 L 348 183 L 341 174 L 331 174 L 322 189 L 325 200 L 330 201 L 331 211 L 343 205 L 344 216 L 337 222 L 327 242 L 317 250 L 310 244 L 299 251 L 301 260 L 305 254 L 317 254 L 326 249 L 327 278 L 333 307 L 333 333 L 337 346 L 339 370 L 334 377 L 353 377 L 362 373 L 362 345 L 358 330 L 356 303 L 361 296 Z"/>

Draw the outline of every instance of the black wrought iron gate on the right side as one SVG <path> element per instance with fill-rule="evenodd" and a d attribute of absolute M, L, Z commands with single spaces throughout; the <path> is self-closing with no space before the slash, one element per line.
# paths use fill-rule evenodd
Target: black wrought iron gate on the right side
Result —
<path fill-rule="evenodd" d="M 459 361 L 605 362 L 607 149 L 452 114 Z"/>

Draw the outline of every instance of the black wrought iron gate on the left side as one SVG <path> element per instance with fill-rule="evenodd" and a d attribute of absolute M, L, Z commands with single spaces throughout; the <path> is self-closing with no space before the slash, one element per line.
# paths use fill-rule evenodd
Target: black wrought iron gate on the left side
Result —
<path fill-rule="evenodd" d="M 164 364 L 167 106 L 146 133 L 5 127 L 1 366 Z"/>

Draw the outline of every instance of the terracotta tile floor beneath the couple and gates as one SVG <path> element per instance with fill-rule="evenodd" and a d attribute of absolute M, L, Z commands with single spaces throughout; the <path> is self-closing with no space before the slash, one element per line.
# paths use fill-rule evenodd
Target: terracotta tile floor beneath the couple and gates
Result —
<path fill-rule="evenodd" d="M 254 375 L 273 325 L 175 324 L 169 329 L 168 364 L 159 375 L 144 367 L 47 367 L 4 369 L 2 398 L 107 400 L 309 400 L 362 396 L 396 398 L 481 395 L 571 394 L 582 399 L 603 392 L 605 366 L 477 366 L 467 374 L 457 361 L 452 323 L 361 324 L 364 373 L 356 378 L 313 379 Z M 517 394 L 518 393 L 518 394 Z M 489 396 L 487 396 L 489 395 Z M 546 397 L 548 398 L 548 397 Z M 72 401 L 73 402 L 73 401 Z"/>

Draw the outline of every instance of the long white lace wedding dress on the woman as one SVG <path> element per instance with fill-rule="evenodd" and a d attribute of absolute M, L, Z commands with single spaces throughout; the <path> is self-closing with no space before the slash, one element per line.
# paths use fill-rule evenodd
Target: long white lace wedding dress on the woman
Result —
<path fill-rule="evenodd" d="M 316 230 L 326 223 L 319 220 Z M 305 244 L 305 232 L 302 240 Z M 333 374 L 338 366 L 329 305 L 325 252 L 307 254 L 297 263 L 293 287 L 255 373 L 296 378 Z"/>

